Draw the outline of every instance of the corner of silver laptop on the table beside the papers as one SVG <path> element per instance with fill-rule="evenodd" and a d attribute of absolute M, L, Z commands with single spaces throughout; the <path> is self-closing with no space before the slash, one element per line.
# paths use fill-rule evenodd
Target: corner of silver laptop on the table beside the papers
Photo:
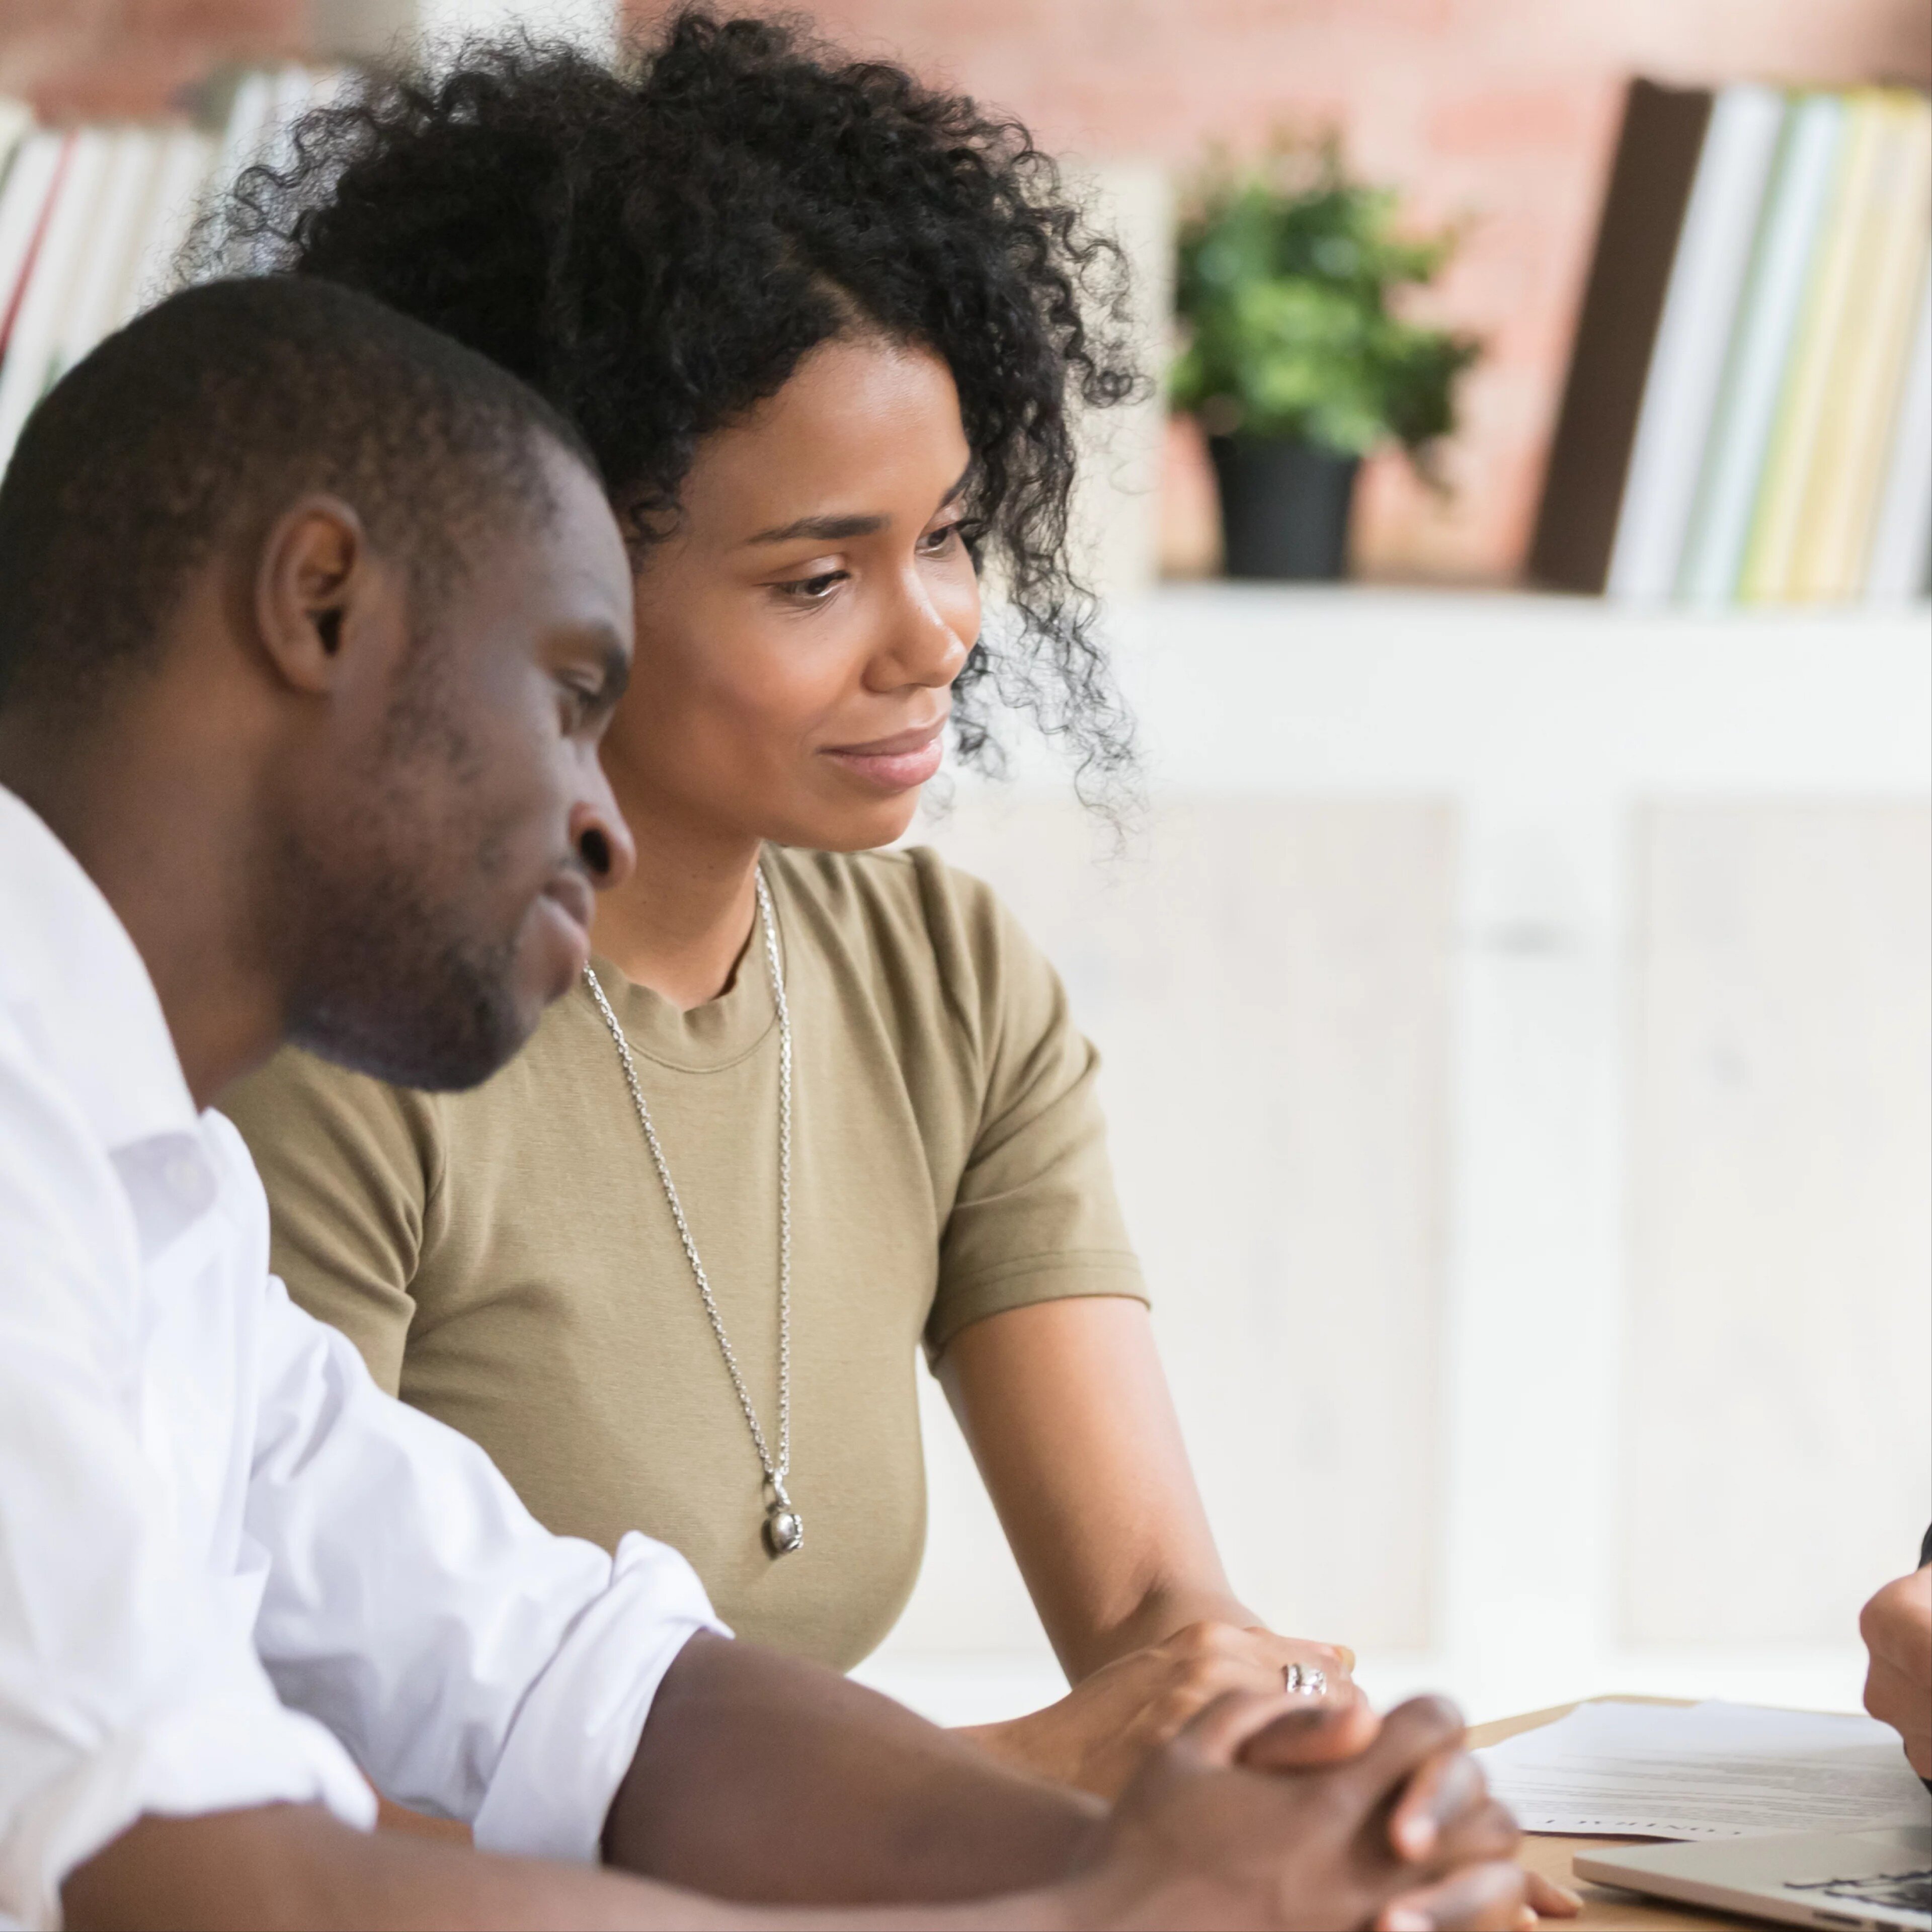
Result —
<path fill-rule="evenodd" d="M 1932 1932 L 1932 1826 L 1926 1824 L 1696 1845 L 1605 1845 L 1577 1855 L 1577 1876 L 1797 1926 Z"/>

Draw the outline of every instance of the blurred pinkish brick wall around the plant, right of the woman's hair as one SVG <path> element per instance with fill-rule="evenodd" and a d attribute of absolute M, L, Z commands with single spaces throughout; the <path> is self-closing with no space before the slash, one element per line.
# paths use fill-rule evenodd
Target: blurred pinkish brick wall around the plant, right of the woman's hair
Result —
<path fill-rule="evenodd" d="M 653 4 L 639 12 L 659 12 Z M 1337 120 L 1418 218 L 1466 216 L 1430 307 L 1480 330 L 1453 498 L 1368 477 L 1362 558 L 1507 576 L 1522 554 L 1621 79 L 1932 77 L 1932 0 L 819 0 L 825 27 L 1018 110 L 1049 143 L 1186 166 Z"/>

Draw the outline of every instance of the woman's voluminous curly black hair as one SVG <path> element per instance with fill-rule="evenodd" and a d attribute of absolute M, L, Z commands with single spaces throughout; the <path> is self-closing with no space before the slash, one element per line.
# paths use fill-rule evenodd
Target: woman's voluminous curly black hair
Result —
<path fill-rule="evenodd" d="M 1072 412 L 1140 390 L 1124 261 L 1018 122 L 709 8 L 616 64 L 471 41 L 309 112 L 193 255 L 348 282 L 516 371 L 583 431 L 639 547 L 699 442 L 813 346 L 860 327 L 933 350 L 974 452 L 964 535 L 1007 607 L 956 684 L 960 753 L 999 765 L 997 694 L 1082 788 L 1130 773 L 1066 554 Z"/>

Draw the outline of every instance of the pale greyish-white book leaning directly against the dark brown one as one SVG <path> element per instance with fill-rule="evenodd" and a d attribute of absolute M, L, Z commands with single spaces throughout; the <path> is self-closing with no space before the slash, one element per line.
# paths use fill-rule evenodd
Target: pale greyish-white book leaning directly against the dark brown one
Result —
<path fill-rule="evenodd" d="M 1677 587 L 1783 122 L 1785 97 L 1770 87 L 1725 87 L 1712 106 L 1644 379 L 1609 556 L 1611 597 L 1662 603 Z"/>

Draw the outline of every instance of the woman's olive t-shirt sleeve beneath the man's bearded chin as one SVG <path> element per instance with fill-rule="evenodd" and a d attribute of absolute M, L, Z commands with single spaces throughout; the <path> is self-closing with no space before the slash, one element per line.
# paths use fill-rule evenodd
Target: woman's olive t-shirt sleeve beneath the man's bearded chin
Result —
<path fill-rule="evenodd" d="M 433 1099 L 284 1047 L 216 1105 L 269 1192 L 269 1265 L 394 1395 L 435 1196 Z"/>

